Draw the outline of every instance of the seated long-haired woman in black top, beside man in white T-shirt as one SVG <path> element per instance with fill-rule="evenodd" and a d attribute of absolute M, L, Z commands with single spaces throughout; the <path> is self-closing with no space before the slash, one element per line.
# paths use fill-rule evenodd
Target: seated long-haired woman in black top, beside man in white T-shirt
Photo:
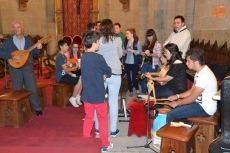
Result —
<path fill-rule="evenodd" d="M 165 85 L 155 83 L 156 98 L 167 98 L 180 94 L 187 90 L 186 68 L 178 46 L 169 43 L 164 47 L 164 56 L 168 60 L 169 70 L 165 76 L 152 77 L 150 73 L 146 77 L 155 82 L 165 82 Z"/>

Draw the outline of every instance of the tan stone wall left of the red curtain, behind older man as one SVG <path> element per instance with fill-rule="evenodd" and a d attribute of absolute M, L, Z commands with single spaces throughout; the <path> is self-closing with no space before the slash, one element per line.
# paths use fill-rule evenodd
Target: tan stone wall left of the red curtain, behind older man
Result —
<path fill-rule="evenodd" d="M 48 46 L 49 50 L 52 50 L 53 42 L 56 42 L 54 0 L 29 0 L 27 8 L 27 11 L 20 11 L 18 0 L 0 0 L 0 34 L 13 34 L 13 21 L 21 21 L 24 25 L 25 35 L 46 36 L 51 34 L 53 38 Z M 57 48 L 56 45 L 55 48 Z M 48 52 L 53 52 L 49 50 Z"/>

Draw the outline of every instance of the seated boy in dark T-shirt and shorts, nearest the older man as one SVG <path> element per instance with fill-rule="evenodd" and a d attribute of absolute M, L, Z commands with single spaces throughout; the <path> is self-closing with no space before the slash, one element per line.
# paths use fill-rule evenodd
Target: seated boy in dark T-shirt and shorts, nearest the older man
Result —
<path fill-rule="evenodd" d="M 81 90 L 82 90 L 82 83 L 81 78 L 76 75 L 72 75 L 71 71 L 75 71 L 78 69 L 78 65 L 70 67 L 67 63 L 67 59 L 65 56 L 65 52 L 68 51 L 69 46 L 66 40 L 59 40 L 58 47 L 60 49 L 59 53 L 56 56 L 56 81 L 60 83 L 67 83 L 72 84 L 74 86 L 74 91 L 72 97 L 69 99 L 70 103 L 74 107 L 79 107 L 81 105 Z"/>

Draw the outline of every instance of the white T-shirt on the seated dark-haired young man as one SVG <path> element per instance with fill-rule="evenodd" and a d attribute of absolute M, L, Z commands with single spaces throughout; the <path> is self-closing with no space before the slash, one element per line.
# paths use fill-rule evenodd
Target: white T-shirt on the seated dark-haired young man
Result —
<path fill-rule="evenodd" d="M 204 66 L 199 73 L 195 74 L 194 85 L 204 89 L 196 102 L 203 107 L 207 114 L 213 115 L 217 109 L 217 102 L 212 99 L 212 96 L 217 92 L 217 81 L 208 66 Z"/>

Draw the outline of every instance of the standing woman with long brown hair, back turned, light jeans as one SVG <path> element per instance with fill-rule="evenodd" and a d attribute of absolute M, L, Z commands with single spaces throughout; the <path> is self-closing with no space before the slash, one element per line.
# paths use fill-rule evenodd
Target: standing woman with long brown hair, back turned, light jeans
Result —
<path fill-rule="evenodd" d="M 121 38 L 115 36 L 113 22 L 110 19 L 104 19 L 100 25 L 100 40 L 98 54 L 103 55 L 106 63 L 112 70 L 112 76 L 106 78 L 105 88 L 108 88 L 109 116 L 110 116 L 110 135 L 116 137 L 119 133 L 117 129 L 118 119 L 118 93 L 121 86 L 121 62 L 123 55 Z M 96 122 L 96 121 L 95 121 Z M 97 122 L 96 122 L 97 123 Z M 96 130 L 98 125 L 96 124 Z"/>

